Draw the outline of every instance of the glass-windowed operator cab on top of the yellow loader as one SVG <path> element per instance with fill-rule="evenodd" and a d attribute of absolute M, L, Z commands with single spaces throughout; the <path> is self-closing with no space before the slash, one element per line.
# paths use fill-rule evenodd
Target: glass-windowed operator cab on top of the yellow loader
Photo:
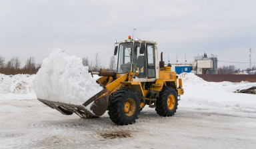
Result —
<path fill-rule="evenodd" d="M 117 73 L 133 72 L 135 79 L 147 82 L 158 78 L 157 43 L 153 41 L 134 41 L 133 39 L 117 43 Z M 118 53 L 117 53 L 118 51 Z"/>

